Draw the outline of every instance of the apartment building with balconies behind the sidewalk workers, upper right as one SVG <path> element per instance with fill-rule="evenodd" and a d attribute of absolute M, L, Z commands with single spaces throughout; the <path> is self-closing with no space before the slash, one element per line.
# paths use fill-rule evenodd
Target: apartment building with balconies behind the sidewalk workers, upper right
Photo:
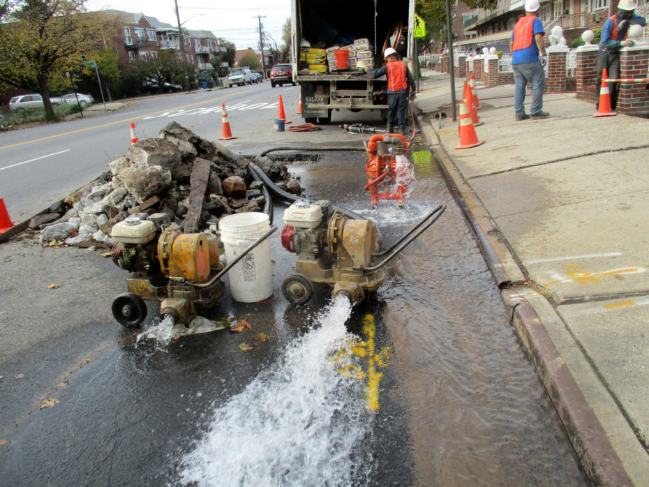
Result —
<path fill-rule="evenodd" d="M 587 29 L 601 29 L 604 21 L 618 11 L 619 0 L 550 0 L 541 1 L 537 17 L 543 22 L 546 37 L 556 25 L 562 27 L 567 44 L 579 38 Z M 646 17 L 648 0 L 638 0 L 638 15 Z M 454 47 L 495 47 L 509 52 L 509 38 L 516 21 L 525 15 L 524 0 L 499 0 L 498 8 L 477 8 L 463 14 L 463 33 L 468 36 L 458 40 Z"/>

